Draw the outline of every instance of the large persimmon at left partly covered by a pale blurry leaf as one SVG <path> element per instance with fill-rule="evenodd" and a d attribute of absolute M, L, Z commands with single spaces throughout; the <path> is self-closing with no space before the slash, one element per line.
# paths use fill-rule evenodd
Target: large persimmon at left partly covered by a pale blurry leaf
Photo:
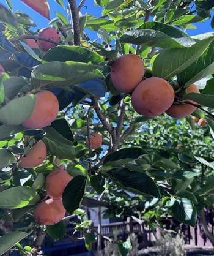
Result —
<path fill-rule="evenodd" d="M 40 91 L 35 94 L 34 111 L 30 118 L 21 124 L 31 129 L 39 129 L 48 126 L 54 121 L 59 112 L 57 97 L 50 91 Z"/>

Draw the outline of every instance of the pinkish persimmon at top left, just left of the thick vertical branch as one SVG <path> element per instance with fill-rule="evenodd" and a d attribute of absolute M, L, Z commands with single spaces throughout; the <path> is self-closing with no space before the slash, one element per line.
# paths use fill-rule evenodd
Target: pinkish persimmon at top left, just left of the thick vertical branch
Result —
<path fill-rule="evenodd" d="M 39 31 L 39 36 L 50 38 L 51 40 L 54 40 L 56 42 L 59 42 L 62 40 L 61 36 L 59 34 L 57 34 L 56 29 L 50 28 L 50 27 L 41 29 Z M 39 43 L 40 43 L 41 47 L 43 48 L 43 50 L 45 50 L 45 51 L 48 51 L 50 48 L 55 46 L 53 43 L 48 43 L 43 40 L 39 40 Z"/>

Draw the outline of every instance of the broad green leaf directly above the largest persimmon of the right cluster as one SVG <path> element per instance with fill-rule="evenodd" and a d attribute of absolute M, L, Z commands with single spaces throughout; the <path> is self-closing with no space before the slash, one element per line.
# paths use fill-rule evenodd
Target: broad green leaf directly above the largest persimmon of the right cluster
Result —
<path fill-rule="evenodd" d="M 153 76 L 163 79 L 174 77 L 196 61 L 213 41 L 213 32 L 194 36 L 196 44 L 190 48 L 166 49 L 153 62 Z M 179 61 L 177 61 L 179 59 Z"/>

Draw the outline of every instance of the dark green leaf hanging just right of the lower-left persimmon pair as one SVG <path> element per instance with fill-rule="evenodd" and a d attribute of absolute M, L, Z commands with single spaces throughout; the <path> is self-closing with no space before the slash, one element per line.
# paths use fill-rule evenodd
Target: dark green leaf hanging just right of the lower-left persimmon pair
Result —
<path fill-rule="evenodd" d="M 87 176 L 76 176 L 64 189 L 62 203 L 66 211 L 71 214 L 81 205 L 86 190 Z"/>

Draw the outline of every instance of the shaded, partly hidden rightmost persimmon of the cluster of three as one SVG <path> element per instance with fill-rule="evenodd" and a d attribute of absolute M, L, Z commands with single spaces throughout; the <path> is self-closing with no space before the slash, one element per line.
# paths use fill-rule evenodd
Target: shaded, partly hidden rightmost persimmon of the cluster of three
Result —
<path fill-rule="evenodd" d="M 200 93 L 199 89 L 197 89 L 197 86 L 193 83 L 191 84 L 187 89 L 187 93 L 195 92 Z M 194 104 L 197 104 L 193 100 L 188 100 L 189 102 L 192 102 Z M 194 107 L 193 105 L 190 105 L 188 103 L 185 104 L 172 104 L 171 107 L 166 110 L 166 114 L 171 116 L 172 118 L 185 118 L 185 116 L 190 115 L 191 113 L 196 110 L 197 107 Z"/>

